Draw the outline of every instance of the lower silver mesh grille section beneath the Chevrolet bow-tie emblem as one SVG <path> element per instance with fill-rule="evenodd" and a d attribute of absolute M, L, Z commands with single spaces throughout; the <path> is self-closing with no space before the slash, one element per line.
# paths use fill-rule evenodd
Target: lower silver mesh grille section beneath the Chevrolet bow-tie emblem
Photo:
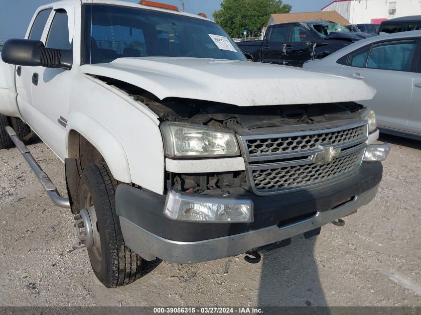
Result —
<path fill-rule="evenodd" d="M 253 181 L 260 193 L 273 193 L 321 184 L 356 170 L 364 150 L 334 159 L 331 163 L 317 163 L 252 171 Z"/>

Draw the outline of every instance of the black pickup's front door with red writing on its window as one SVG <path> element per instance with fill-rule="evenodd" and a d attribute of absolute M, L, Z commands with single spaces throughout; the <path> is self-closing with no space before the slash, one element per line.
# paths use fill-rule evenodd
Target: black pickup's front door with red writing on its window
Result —
<path fill-rule="evenodd" d="M 313 54 L 313 34 L 302 25 L 294 24 L 291 28 L 291 40 L 286 44 L 285 64 L 289 66 L 299 66 L 312 59 Z"/>

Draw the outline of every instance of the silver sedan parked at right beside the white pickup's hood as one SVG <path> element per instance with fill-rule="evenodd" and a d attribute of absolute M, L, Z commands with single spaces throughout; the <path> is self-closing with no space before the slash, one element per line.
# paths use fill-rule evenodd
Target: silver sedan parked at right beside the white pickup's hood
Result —
<path fill-rule="evenodd" d="M 421 138 L 421 30 L 368 38 L 303 66 L 361 80 L 385 133 Z"/>

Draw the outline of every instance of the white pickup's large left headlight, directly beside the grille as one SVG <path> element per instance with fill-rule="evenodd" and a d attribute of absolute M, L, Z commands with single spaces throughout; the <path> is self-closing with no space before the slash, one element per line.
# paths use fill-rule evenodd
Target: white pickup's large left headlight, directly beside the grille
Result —
<path fill-rule="evenodd" d="M 169 157 L 238 156 L 235 134 L 217 128 L 185 123 L 161 125 L 165 155 Z"/>

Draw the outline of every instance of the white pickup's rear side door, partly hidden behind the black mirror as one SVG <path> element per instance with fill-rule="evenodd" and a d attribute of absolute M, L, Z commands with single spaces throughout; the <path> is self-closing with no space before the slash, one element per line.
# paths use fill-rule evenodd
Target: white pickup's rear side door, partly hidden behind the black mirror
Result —
<path fill-rule="evenodd" d="M 25 39 L 41 40 L 48 17 L 51 14 L 52 8 L 43 9 L 35 14 L 30 27 L 27 31 Z M 32 74 L 33 67 L 16 66 L 16 91 L 17 104 L 19 106 L 20 114 L 23 120 L 32 125 Z"/>

